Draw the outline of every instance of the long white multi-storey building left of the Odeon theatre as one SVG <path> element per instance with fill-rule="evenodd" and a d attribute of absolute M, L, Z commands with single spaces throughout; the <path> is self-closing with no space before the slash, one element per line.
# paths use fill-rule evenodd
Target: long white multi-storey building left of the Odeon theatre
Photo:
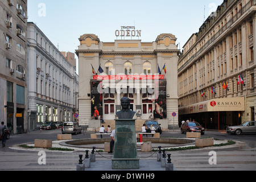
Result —
<path fill-rule="evenodd" d="M 76 68 L 32 22 L 27 24 L 28 129 L 44 121 L 75 121 Z"/>

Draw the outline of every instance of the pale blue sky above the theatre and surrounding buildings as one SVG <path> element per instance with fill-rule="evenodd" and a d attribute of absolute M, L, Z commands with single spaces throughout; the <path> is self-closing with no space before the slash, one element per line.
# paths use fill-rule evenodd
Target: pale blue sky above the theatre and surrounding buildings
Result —
<path fill-rule="evenodd" d="M 28 22 L 34 22 L 59 51 L 75 52 L 80 44 L 78 39 L 84 34 L 96 34 L 101 42 L 114 42 L 115 30 L 121 30 L 121 26 L 141 30 L 142 42 L 154 42 L 160 34 L 173 34 L 182 49 L 222 2 L 28 0 Z"/>

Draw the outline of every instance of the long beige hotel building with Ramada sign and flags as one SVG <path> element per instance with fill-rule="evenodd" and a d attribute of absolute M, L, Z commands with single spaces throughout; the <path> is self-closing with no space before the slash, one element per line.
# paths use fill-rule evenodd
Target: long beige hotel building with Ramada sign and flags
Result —
<path fill-rule="evenodd" d="M 177 67 L 180 121 L 224 130 L 255 120 L 255 5 L 224 1 L 183 47 Z"/>

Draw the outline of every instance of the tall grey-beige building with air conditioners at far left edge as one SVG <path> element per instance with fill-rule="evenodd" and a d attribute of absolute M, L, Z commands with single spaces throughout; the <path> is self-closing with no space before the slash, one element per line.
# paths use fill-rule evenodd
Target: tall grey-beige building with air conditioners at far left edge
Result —
<path fill-rule="evenodd" d="M 27 0 L 0 2 L 0 118 L 14 134 L 27 131 Z"/>

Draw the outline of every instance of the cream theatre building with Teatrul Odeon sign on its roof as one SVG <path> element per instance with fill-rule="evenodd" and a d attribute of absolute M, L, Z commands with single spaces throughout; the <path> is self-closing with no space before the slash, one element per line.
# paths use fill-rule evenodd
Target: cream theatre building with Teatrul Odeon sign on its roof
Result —
<path fill-rule="evenodd" d="M 172 117 L 177 113 L 180 52 L 175 36 L 160 34 L 154 42 L 142 42 L 142 32 L 135 27 L 114 33 L 114 42 L 101 42 L 94 34 L 79 38 L 79 121 L 92 119 L 95 106 L 104 120 L 114 120 L 120 99 L 128 97 L 130 109 L 136 111 L 134 119 L 154 117 L 158 110 L 162 115 L 155 114 L 157 119 L 177 125 L 177 117 Z"/>

